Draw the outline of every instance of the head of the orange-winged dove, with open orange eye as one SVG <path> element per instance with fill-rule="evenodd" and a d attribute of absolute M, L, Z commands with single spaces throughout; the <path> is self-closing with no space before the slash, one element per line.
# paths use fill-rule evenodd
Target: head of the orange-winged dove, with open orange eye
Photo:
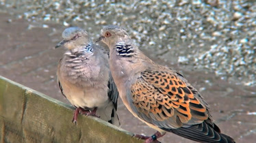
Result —
<path fill-rule="evenodd" d="M 112 45 L 116 44 L 116 42 L 124 41 L 127 39 L 130 39 L 130 37 L 125 29 L 116 25 L 108 25 L 101 29 L 101 37 L 99 37 L 97 42 L 102 41 L 107 44 L 109 48 L 111 48 Z"/>

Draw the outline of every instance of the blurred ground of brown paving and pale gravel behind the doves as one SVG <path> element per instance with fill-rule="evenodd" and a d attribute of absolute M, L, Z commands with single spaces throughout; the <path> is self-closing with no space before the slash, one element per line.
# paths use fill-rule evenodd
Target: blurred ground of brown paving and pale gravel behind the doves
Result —
<path fill-rule="evenodd" d="M 256 140 L 255 0 L 0 0 L 0 75 L 68 103 L 55 74 L 65 49 L 54 46 L 66 27 L 82 27 L 95 40 L 103 25 L 125 27 L 153 61 L 181 72 L 222 133 Z M 118 115 L 127 131 L 155 133 L 120 100 Z M 172 133 L 159 141 L 192 142 Z"/>

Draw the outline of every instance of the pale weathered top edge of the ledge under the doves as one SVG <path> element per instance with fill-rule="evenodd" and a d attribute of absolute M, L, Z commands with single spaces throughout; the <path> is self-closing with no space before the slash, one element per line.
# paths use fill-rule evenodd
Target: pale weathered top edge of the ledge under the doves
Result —
<path fill-rule="evenodd" d="M 18 88 L 22 89 L 22 91 L 24 92 L 25 96 L 26 96 L 26 94 L 32 93 L 33 95 L 37 95 L 38 97 L 40 97 L 40 98 L 42 98 L 44 100 L 46 99 L 49 102 L 53 102 L 54 104 L 57 104 L 57 106 L 60 106 L 60 108 L 66 108 L 66 109 L 70 110 L 71 112 L 73 112 L 73 110 L 74 110 L 73 106 L 70 106 L 68 104 L 64 104 L 63 102 L 58 101 L 57 99 L 53 99 L 52 97 L 44 95 L 43 93 L 35 91 L 34 89 L 30 89 L 27 86 L 23 86 L 22 84 L 18 84 L 17 82 L 9 80 L 8 78 L 4 78 L 4 77 L 0 76 L 0 80 L 2 80 L 1 82 L 5 81 L 5 82 L 8 82 L 9 84 L 13 84 L 15 86 L 18 86 Z M 1 87 L 1 89 L 5 89 L 5 87 Z M 3 95 L 1 95 L 1 93 L 4 93 L 4 92 L 0 91 L 0 100 L 3 99 Z M 0 104 L 2 104 L 1 101 L 0 101 Z M 0 124 L 2 122 L 4 122 L 5 119 L 8 119 L 8 118 L 5 118 L 4 114 L 1 114 L 2 110 L 3 109 L 1 109 L 1 105 L 0 105 L 0 116 L 1 116 Z M 71 114 L 71 117 L 72 117 L 72 114 Z M 99 118 L 94 118 L 94 117 L 90 117 L 90 116 L 79 116 L 79 117 L 80 118 L 84 118 L 84 119 L 79 120 L 79 122 L 86 121 L 86 120 L 94 120 L 94 121 L 97 121 L 97 122 L 101 123 L 101 125 L 103 125 L 102 127 L 107 127 L 107 128 L 112 129 L 112 130 L 120 131 L 121 134 L 125 133 L 127 135 L 126 138 L 131 138 L 129 140 L 132 140 L 132 142 L 142 142 L 142 140 L 137 140 L 136 138 L 132 138 L 133 133 L 130 133 L 129 131 L 125 131 L 124 129 L 121 129 L 121 128 L 116 127 L 116 126 L 114 126 L 114 125 L 112 125 L 110 123 L 102 121 Z M 1 121 L 1 120 L 3 120 L 3 121 Z M 0 125 L 0 127 L 1 127 L 1 125 Z M 1 130 L 3 131 L 3 128 Z M 0 138 L 0 140 L 3 141 L 3 137 Z M 127 139 L 125 139 L 125 140 L 127 140 Z"/>

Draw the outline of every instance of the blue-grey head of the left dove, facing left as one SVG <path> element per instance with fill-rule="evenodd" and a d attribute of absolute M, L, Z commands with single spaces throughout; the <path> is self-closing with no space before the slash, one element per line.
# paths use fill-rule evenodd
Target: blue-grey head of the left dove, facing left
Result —
<path fill-rule="evenodd" d="M 65 47 L 68 50 L 79 48 L 84 45 L 88 45 L 90 38 L 86 30 L 79 27 L 66 28 L 62 33 L 63 40 L 59 42 L 55 48 Z"/>

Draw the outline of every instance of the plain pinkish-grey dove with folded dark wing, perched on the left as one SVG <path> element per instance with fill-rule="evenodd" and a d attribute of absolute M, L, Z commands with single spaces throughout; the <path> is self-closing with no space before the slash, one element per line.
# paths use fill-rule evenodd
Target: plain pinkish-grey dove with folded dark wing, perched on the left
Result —
<path fill-rule="evenodd" d="M 55 46 L 67 48 L 57 67 L 57 81 L 62 94 L 75 106 L 73 121 L 79 113 L 98 116 L 119 126 L 116 114 L 118 91 L 110 74 L 108 54 L 93 44 L 88 33 L 69 27 Z"/>

